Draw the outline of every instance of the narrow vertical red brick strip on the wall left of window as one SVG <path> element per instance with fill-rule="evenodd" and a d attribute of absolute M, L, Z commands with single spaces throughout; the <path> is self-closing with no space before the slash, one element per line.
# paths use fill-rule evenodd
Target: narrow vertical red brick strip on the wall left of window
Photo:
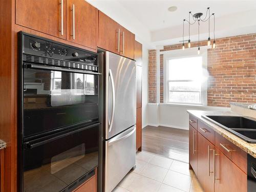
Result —
<path fill-rule="evenodd" d="M 148 51 L 148 102 L 156 102 L 156 50 Z"/>

